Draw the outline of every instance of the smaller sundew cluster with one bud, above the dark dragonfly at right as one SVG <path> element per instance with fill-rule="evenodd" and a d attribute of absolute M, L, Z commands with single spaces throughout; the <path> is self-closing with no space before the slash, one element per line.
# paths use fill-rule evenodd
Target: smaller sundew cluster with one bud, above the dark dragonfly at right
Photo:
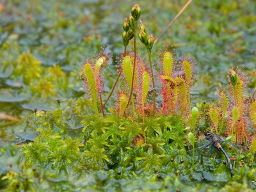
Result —
<path fill-rule="evenodd" d="M 227 91 L 220 91 L 220 106 L 211 106 L 209 116 L 212 130 L 218 134 L 227 132 L 236 143 L 250 143 L 255 135 L 248 132 L 248 125 L 253 122 L 254 103 L 246 99 L 244 88 L 246 80 L 242 72 L 229 71 L 230 84 Z"/>

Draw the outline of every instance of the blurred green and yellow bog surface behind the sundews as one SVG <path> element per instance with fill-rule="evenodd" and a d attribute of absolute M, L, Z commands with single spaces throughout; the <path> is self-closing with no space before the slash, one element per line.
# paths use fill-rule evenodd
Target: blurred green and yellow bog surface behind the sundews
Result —
<path fill-rule="evenodd" d="M 106 98 L 117 77 L 118 54 L 124 51 L 122 23 L 132 6 L 139 4 L 140 20 L 157 37 L 186 2 L 0 0 L 0 112 L 22 118 L 34 108 L 55 109 L 57 98 L 84 97 L 79 63 L 100 52 L 103 45 L 113 54 L 105 71 Z M 216 89 L 228 83 L 228 69 L 243 65 L 248 94 L 252 94 L 256 85 L 255 14 L 255 0 L 192 1 L 154 45 L 155 67 L 159 49 L 166 45 L 194 57 L 193 97 L 194 102 L 201 102 L 216 99 Z M 137 40 L 143 57 L 146 51 Z M 3 120 L 0 126 L 5 125 Z"/>

